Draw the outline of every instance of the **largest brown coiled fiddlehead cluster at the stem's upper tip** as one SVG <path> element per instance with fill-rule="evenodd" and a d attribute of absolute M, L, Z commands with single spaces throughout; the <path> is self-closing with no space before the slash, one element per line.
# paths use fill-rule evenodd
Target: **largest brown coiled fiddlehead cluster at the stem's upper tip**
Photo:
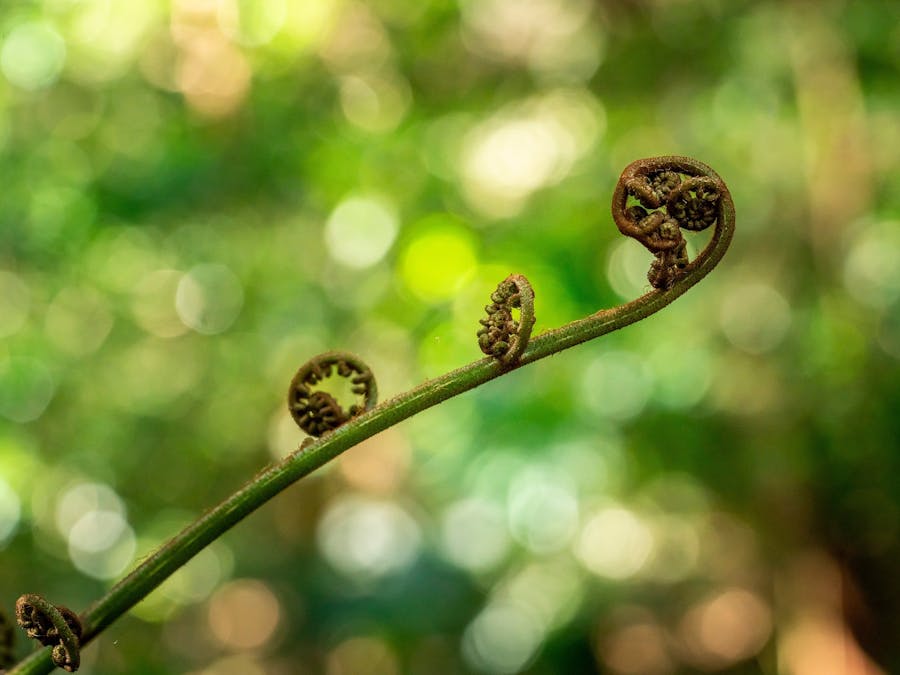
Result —
<path fill-rule="evenodd" d="M 656 256 L 647 279 L 653 288 L 667 290 L 690 264 L 681 230 L 697 232 L 722 222 L 726 208 L 733 212 L 731 203 L 725 183 L 705 164 L 688 157 L 651 157 L 622 172 L 612 214 L 622 234 Z"/>

